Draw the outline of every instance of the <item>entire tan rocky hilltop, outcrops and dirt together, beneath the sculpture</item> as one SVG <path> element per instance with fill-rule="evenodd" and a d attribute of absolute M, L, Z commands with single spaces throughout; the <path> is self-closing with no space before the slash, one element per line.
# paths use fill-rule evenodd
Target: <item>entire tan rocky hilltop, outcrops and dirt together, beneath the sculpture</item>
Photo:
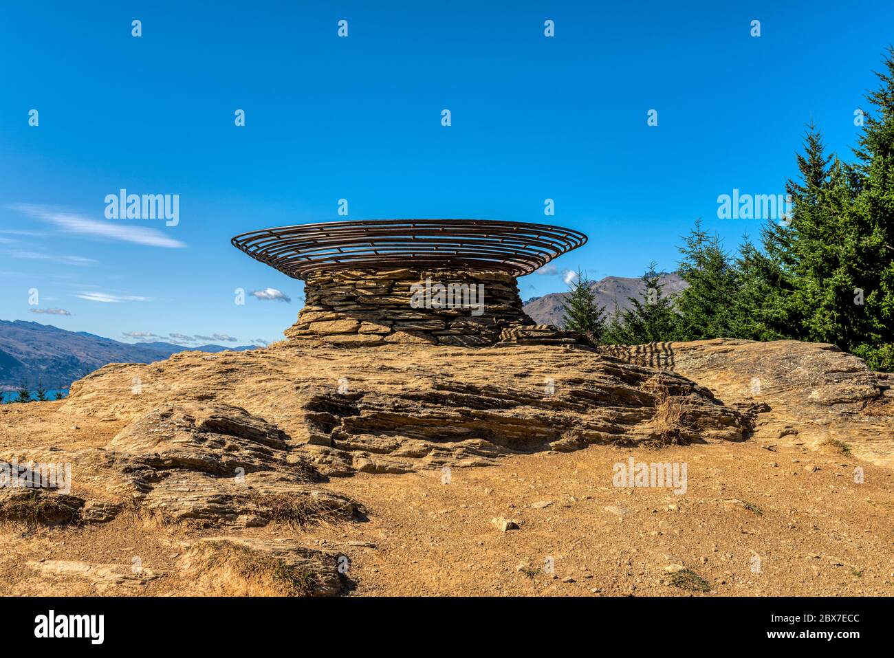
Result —
<path fill-rule="evenodd" d="M 890 589 L 885 533 L 864 530 L 890 526 L 891 475 L 858 459 L 890 465 L 889 375 L 809 343 L 514 340 L 185 352 L 103 367 L 65 401 L 4 405 L 0 460 L 71 464 L 72 488 L 0 492 L 3 591 L 543 594 L 593 578 L 661 594 L 671 567 L 697 564 L 741 594 L 729 572 L 753 573 L 755 553 L 789 574 L 770 590 L 755 575 L 758 595 Z M 637 453 L 688 462 L 687 492 L 616 485 Z M 649 557 L 679 537 L 681 558 Z M 507 565 L 544 542 L 562 577 L 537 583 L 532 563 L 513 585 Z"/>

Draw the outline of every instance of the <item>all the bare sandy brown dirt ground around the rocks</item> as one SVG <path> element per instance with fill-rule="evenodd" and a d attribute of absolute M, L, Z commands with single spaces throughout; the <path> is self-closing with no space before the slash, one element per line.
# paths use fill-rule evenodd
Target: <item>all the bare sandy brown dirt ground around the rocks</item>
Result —
<path fill-rule="evenodd" d="M 98 447 L 125 425 L 64 414 L 56 410 L 61 404 L 4 407 L 0 450 L 31 441 Z M 67 429 L 74 425 L 80 429 Z M 4 526 L 0 595 L 93 595 L 86 581 L 61 584 L 26 562 L 130 569 L 134 557 L 164 576 L 106 594 L 188 594 L 174 567 L 184 540 L 296 533 L 308 546 L 350 557 L 350 595 L 690 595 L 671 585 L 665 567 L 674 563 L 704 578 L 709 595 L 894 595 L 894 472 L 831 449 L 765 445 L 591 446 L 519 455 L 493 468 L 454 468 L 448 485 L 440 471 L 333 478 L 327 488 L 362 502 L 368 520 L 306 533 L 283 526 L 161 527 L 126 514 L 105 526 L 33 533 Z M 630 455 L 687 462 L 687 493 L 612 486 L 612 465 Z M 863 484 L 854 482 L 857 466 L 864 468 Z M 729 502 L 735 499 L 763 514 Z M 546 501 L 552 504 L 531 507 Z M 517 519 L 521 529 L 501 532 L 490 523 L 494 517 Z M 760 573 L 751 570 L 755 554 Z M 539 570 L 547 558 L 553 574 Z"/>

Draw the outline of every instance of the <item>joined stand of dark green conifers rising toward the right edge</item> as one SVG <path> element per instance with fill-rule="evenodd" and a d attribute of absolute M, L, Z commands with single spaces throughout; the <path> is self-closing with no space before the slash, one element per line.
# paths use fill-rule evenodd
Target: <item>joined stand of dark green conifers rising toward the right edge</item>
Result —
<path fill-rule="evenodd" d="M 797 181 L 786 184 L 791 215 L 763 227 L 762 249 L 746 236 L 730 257 L 696 223 L 680 248 L 687 290 L 664 298 L 653 264 L 645 303 L 616 310 L 603 342 L 794 338 L 894 371 L 894 48 L 877 75 L 855 164 L 827 154 L 808 125 Z"/>

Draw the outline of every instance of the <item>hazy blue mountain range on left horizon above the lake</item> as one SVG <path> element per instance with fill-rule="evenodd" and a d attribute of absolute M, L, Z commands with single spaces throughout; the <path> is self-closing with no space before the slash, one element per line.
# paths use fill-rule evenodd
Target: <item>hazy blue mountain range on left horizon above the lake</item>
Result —
<path fill-rule="evenodd" d="M 119 342 L 37 322 L 0 320 L 0 391 L 21 384 L 33 390 L 38 379 L 47 389 L 68 388 L 73 381 L 107 363 L 152 363 L 186 350 L 253 349 L 249 345 L 184 347 L 171 342 Z"/>

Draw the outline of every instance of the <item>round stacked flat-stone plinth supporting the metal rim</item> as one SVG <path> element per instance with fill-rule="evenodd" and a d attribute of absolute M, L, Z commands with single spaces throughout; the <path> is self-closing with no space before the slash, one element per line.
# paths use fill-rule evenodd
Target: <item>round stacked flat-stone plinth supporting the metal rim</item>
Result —
<path fill-rule="evenodd" d="M 473 308 L 411 304 L 414 286 L 483 285 L 480 315 Z M 480 290 L 480 289 L 478 289 Z M 522 309 L 515 277 L 462 269 L 336 270 L 309 274 L 305 307 L 286 330 L 292 341 L 342 345 L 427 343 L 488 346 L 500 342 L 574 344 L 578 336 L 536 325 Z"/>

